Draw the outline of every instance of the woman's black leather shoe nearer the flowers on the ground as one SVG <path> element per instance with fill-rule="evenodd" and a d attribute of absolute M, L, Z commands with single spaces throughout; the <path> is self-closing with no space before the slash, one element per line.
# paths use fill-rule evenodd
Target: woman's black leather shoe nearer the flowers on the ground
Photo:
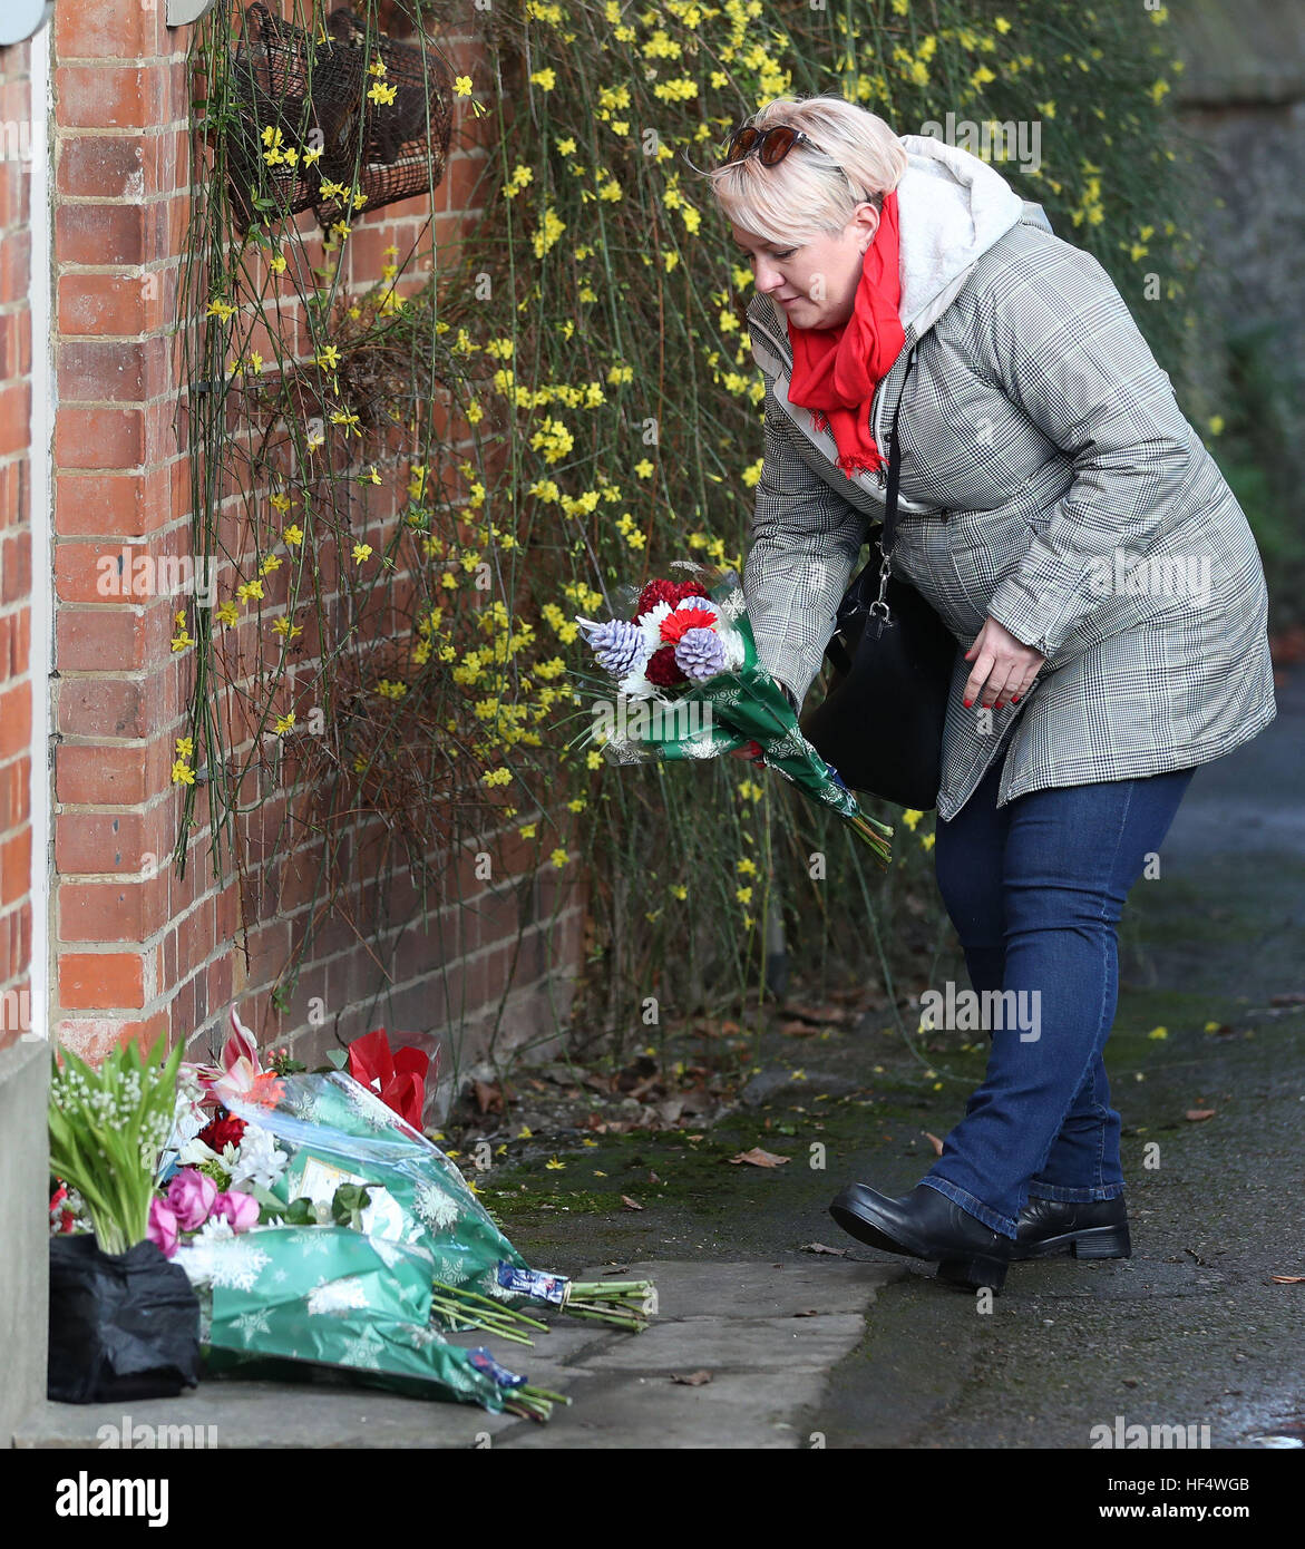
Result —
<path fill-rule="evenodd" d="M 953 1205 L 928 1183 L 890 1199 L 865 1183 L 849 1183 L 829 1207 L 843 1231 L 885 1253 L 938 1259 L 938 1278 L 953 1286 L 1000 1292 L 1015 1247 L 981 1221 Z"/>

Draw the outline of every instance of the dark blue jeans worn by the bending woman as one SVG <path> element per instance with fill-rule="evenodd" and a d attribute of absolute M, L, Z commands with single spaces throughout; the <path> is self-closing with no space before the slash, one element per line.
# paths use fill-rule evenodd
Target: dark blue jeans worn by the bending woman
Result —
<path fill-rule="evenodd" d="M 1040 1015 L 986 1018 L 983 1086 L 921 1183 L 1014 1238 L 1029 1194 L 1124 1193 L 1102 1060 L 1119 993 L 1116 926 L 1195 768 L 1034 790 L 998 810 L 1001 764 L 950 823 L 939 818 L 938 886 L 978 996 L 1014 990 L 1015 1005 Z M 995 1013 L 995 998 L 987 1004 Z"/>

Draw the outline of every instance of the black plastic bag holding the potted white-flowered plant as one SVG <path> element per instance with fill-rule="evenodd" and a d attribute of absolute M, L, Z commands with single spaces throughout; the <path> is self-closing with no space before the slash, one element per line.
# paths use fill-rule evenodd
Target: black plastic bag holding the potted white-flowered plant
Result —
<path fill-rule="evenodd" d="M 102 1253 L 95 1236 L 50 1239 L 50 1369 L 59 1403 L 175 1399 L 200 1380 L 200 1301 L 153 1242 Z"/>

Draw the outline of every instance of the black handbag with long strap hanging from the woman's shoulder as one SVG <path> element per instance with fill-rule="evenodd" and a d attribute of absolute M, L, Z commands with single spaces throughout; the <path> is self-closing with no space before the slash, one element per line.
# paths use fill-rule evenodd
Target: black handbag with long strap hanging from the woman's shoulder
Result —
<path fill-rule="evenodd" d="M 914 350 L 911 345 L 902 393 Z M 938 805 L 942 722 L 958 644 L 919 592 L 890 570 L 897 539 L 902 393 L 888 437 L 880 561 L 871 559 L 843 595 L 825 647 L 834 666 L 829 692 L 798 725 L 849 790 L 928 812 Z"/>

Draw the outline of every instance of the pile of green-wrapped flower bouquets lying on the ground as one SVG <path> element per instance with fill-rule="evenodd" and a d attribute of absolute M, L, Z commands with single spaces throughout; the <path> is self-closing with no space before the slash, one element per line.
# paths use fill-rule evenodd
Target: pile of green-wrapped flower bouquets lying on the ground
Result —
<path fill-rule="evenodd" d="M 400 1112 L 420 1114 L 422 1094 L 403 1078 L 422 1073 L 411 1053 L 375 1033 L 360 1039 L 353 1064 L 375 1072 L 372 1084 L 288 1061 L 263 1070 L 234 1008 L 231 1022 L 220 1067 L 181 1066 L 150 1218 L 152 1239 L 200 1293 L 211 1368 L 346 1366 L 400 1391 L 546 1419 L 558 1394 L 448 1335 L 479 1329 L 529 1345 L 549 1327 L 524 1310 L 532 1304 L 646 1326 L 646 1281 L 580 1284 L 530 1269 Z"/>

